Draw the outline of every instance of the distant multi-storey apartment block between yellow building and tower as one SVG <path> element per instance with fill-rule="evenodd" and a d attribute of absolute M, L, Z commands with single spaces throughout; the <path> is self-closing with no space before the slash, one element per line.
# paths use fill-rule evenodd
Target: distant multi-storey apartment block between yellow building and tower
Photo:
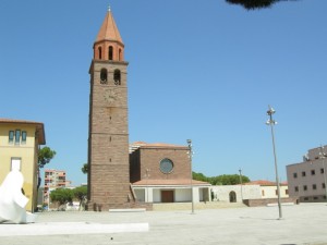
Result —
<path fill-rule="evenodd" d="M 49 194 L 51 191 L 70 186 L 71 182 L 65 179 L 65 171 L 46 169 L 45 170 L 45 188 L 44 203 L 49 204 Z"/>

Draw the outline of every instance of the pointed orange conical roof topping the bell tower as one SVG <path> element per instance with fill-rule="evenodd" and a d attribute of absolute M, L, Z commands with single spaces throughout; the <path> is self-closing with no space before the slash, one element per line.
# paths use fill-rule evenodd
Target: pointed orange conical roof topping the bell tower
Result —
<path fill-rule="evenodd" d="M 106 17 L 102 22 L 101 28 L 100 28 L 97 39 L 96 39 L 96 42 L 102 41 L 102 40 L 111 40 L 111 41 L 118 41 L 118 42 L 123 44 L 120 33 L 117 28 L 116 22 L 113 20 L 113 15 L 110 11 L 110 8 L 108 9 Z"/>

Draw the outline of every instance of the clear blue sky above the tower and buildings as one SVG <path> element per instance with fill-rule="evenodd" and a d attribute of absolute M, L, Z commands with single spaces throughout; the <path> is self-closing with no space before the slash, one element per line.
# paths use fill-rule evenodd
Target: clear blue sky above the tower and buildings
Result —
<path fill-rule="evenodd" d="M 130 142 L 186 145 L 193 170 L 275 179 L 326 144 L 327 1 L 1 0 L 0 118 L 45 123 L 48 168 L 86 182 L 88 69 L 110 3 L 129 64 Z"/>

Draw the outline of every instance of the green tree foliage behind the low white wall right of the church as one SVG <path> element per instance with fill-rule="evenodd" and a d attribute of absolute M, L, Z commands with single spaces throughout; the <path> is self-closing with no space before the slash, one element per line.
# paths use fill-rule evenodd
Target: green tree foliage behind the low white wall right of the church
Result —
<path fill-rule="evenodd" d="M 205 176 L 203 173 L 193 172 L 193 180 L 209 182 L 211 185 L 237 185 L 240 184 L 239 174 L 222 174 L 218 176 Z M 250 182 L 250 179 L 242 175 L 242 183 Z"/>

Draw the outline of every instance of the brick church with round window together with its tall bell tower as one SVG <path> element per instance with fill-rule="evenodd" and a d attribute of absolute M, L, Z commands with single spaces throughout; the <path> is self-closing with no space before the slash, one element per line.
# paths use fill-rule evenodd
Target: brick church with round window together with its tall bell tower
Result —
<path fill-rule="evenodd" d="M 108 10 L 89 68 L 88 210 L 145 207 L 209 198 L 209 184 L 191 181 L 187 146 L 141 144 L 130 154 L 128 62 Z M 146 195 L 147 194 L 147 195 Z"/>

